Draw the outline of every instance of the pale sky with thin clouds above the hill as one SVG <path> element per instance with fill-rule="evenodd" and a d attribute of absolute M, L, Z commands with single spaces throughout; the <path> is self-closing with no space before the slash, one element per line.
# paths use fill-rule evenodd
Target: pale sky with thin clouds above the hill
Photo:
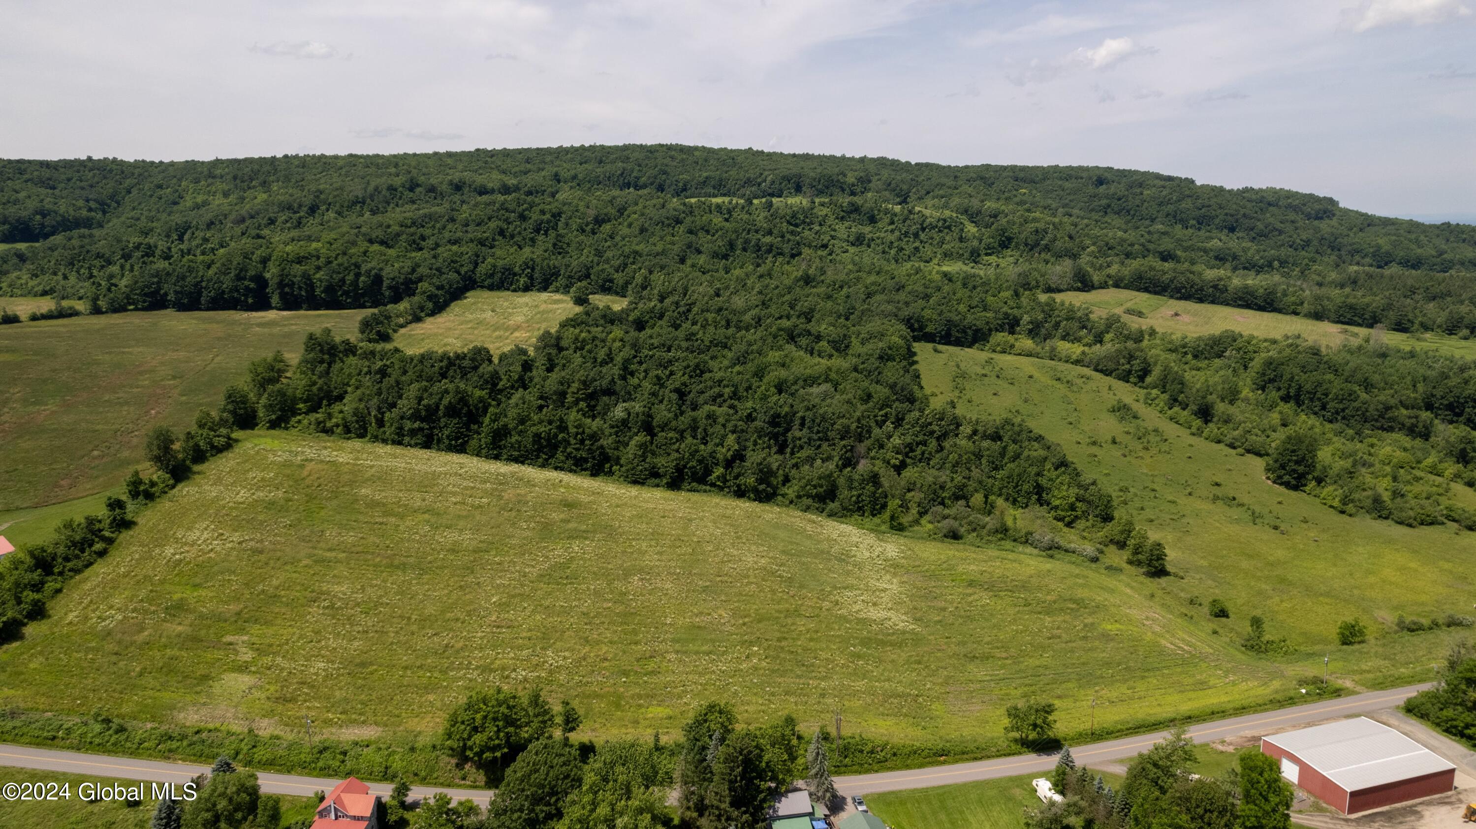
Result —
<path fill-rule="evenodd" d="M 675 142 L 1476 214 L 1476 0 L 0 0 L 0 156 Z"/>

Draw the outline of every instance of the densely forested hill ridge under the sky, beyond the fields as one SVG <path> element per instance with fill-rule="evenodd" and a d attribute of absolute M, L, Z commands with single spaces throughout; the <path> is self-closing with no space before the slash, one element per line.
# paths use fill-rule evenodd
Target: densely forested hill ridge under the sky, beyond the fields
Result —
<path fill-rule="evenodd" d="M 753 199 L 763 199 L 757 204 Z M 784 202 L 769 202 L 782 199 Z M 0 288 L 93 310 L 378 307 L 456 285 L 623 292 L 641 271 L 861 249 L 1024 263 L 1352 325 L 1476 326 L 1476 227 L 1092 167 L 689 146 L 205 162 L 0 161 Z"/>

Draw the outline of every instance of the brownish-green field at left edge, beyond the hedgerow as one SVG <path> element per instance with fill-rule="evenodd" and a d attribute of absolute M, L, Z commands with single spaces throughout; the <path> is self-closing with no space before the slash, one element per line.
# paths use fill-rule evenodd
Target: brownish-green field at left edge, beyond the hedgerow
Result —
<path fill-rule="evenodd" d="M 189 426 L 248 361 L 363 311 L 139 311 L 0 326 L 0 510 L 111 490 L 143 466 L 143 435 Z M 0 513 L 0 524 L 15 519 Z"/>

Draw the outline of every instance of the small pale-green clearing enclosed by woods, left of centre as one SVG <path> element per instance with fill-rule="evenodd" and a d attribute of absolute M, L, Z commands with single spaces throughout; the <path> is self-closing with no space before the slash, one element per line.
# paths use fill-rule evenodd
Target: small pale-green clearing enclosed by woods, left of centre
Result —
<path fill-rule="evenodd" d="M 595 295 L 592 302 L 620 308 L 624 296 Z M 434 317 L 404 326 L 394 344 L 406 351 L 465 351 L 486 345 L 493 354 L 514 345 L 531 347 L 545 330 L 579 311 L 564 294 L 471 291 Z"/>

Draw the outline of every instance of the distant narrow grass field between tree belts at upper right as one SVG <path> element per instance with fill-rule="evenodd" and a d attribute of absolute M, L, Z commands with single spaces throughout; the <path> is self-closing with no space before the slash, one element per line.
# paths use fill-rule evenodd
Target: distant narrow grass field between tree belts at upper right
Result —
<path fill-rule="evenodd" d="M 1230 305 L 1209 305 L 1185 299 L 1169 299 L 1126 288 L 1100 288 L 1097 291 L 1066 291 L 1051 294 L 1063 302 L 1088 305 L 1097 313 L 1120 314 L 1137 326 L 1153 326 L 1163 332 L 1201 335 L 1219 333 L 1225 329 L 1253 333 L 1256 336 L 1297 335 L 1309 342 L 1327 347 L 1359 342 L 1373 333 L 1367 327 L 1325 323 L 1290 314 L 1247 311 Z M 1142 311 L 1142 317 L 1123 314 L 1128 308 Z M 1444 333 L 1410 335 L 1390 330 L 1384 333 L 1389 345 L 1399 348 L 1433 348 L 1458 357 L 1476 358 L 1476 339 L 1460 339 Z"/>

